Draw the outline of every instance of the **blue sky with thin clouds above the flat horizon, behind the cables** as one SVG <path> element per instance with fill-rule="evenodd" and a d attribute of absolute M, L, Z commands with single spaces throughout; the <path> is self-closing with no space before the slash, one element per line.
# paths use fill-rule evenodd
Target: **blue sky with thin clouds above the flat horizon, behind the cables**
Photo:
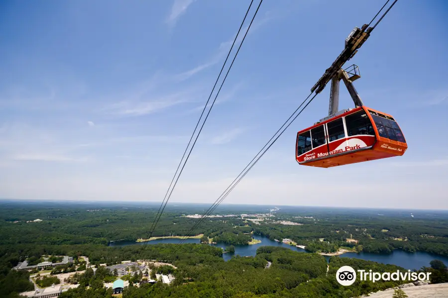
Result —
<path fill-rule="evenodd" d="M 249 2 L 1 1 L 0 197 L 161 201 Z M 383 4 L 265 0 L 170 202 L 214 202 Z M 327 86 L 225 202 L 448 209 L 447 12 L 398 1 L 346 64 L 404 156 L 297 164 Z"/>

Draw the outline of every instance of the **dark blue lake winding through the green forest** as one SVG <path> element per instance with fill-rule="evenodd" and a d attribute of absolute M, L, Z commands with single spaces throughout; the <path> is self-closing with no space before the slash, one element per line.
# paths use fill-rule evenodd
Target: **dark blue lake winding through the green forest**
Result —
<path fill-rule="evenodd" d="M 255 239 L 261 240 L 261 242 L 257 243 L 257 244 L 252 244 L 252 245 L 234 245 L 235 253 L 233 253 L 233 254 L 224 253 L 223 254 L 224 261 L 229 260 L 233 255 L 237 255 L 237 254 L 240 256 L 243 256 L 243 257 L 255 256 L 258 247 L 267 246 L 267 245 L 282 246 L 282 247 L 286 247 L 286 248 L 289 248 L 294 251 L 306 252 L 305 249 L 302 249 L 302 248 L 299 248 L 296 246 L 291 246 L 291 245 L 285 244 L 283 242 L 277 242 L 277 241 L 271 240 L 265 236 L 254 235 L 253 237 Z M 148 243 L 148 244 L 174 243 L 174 244 L 177 244 L 177 243 L 179 243 L 179 240 L 180 239 L 175 239 L 175 238 L 165 238 L 165 239 L 151 240 L 151 241 L 147 241 L 147 242 L 130 242 L 130 241 L 111 242 L 109 245 L 110 246 L 125 246 L 125 245 L 139 245 L 139 244 L 141 245 L 144 243 Z M 200 239 L 189 238 L 189 239 L 185 239 L 184 243 L 200 243 Z M 228 246 L 227 244 L 224 244 L 224 243 L 210 244 L 210 245 L 221 247 L 223 249 L 225 249 L 225 247 Z M 376 254 L 376 253 L 368 253 L 368 252 L 360 252 L 360 253 L 347 252 L 347 253 L 344 253 L 339 256 L 342 258 L 343 257 L 357 258 L 357 259 L 374 261 L 374 262 L 383 263 L 383 264 L 393 264 L 393 265 L 397 265 L 397 266 L 403 267 L 405 269 L 410 269 L 410 270 L 420 269 L 423 266 L 430 266 L 430 262 L 434 259 L 441 260 L 446 265 L 448 265 L 448 257 L 432 255 L 427 252 L 410 253 L 410 252 L 406 252 L 406 251 L 402 251 L 402 250 L 394 250 L 394 252 L 392 252 L 391 254 Z M 327 259 L 327 261 L 330 259 L 329 256 L 324 256 L 324 257 Z"/>

